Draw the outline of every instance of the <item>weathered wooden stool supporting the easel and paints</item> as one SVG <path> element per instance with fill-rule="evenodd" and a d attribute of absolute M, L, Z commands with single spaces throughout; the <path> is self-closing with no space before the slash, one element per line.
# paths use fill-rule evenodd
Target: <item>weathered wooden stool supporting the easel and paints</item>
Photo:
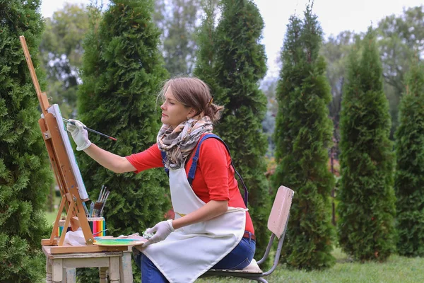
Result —
<path fill-rule="evenodd" d="M 46 282 L 75 283 L 75 269 L 99 267 L 100 283 L 132 283 L 131 251 L 97 253 L 50 253 L 50 246 L 42 246 L 46 255 Z"/>

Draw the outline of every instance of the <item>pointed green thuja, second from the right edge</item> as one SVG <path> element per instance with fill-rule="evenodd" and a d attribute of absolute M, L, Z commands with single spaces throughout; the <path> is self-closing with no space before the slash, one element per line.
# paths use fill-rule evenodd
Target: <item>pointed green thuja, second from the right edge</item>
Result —
<path fill-rule="evenodd" d="M 360 47 L 360 48 L 358 48 Z M 356 260 L 394 250 L 394 153 L 382 65 L 370 28 L 348 59 L 341 109 L 338 240 Z"/>

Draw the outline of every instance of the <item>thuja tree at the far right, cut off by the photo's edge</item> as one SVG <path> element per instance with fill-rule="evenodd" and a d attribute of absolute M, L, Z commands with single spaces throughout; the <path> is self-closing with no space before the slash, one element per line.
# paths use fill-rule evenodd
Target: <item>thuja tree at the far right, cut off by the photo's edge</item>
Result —
<path fill-rule="evenodd" d="M 396 131 L 396 228 L 400 255 L 424 255 L 424 66 L 415 62 L 406 75 L 406 91 Z"/>

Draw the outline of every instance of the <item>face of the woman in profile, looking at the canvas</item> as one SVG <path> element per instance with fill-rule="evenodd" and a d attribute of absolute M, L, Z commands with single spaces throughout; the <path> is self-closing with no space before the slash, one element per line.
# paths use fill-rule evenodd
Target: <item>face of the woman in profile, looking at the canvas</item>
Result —
<path fill-rule="evenodd" d="M 187 117 L 193 117 L 194 109 L 187 107 L 175 99 L 172 94 L 171 88 L 168 88 L 165 93 L 165 101 L 160 105 L 162 109 L 162 118 L 160 119 L 163 124 L 172 126 L 174 129 L 187 120 Z"/>

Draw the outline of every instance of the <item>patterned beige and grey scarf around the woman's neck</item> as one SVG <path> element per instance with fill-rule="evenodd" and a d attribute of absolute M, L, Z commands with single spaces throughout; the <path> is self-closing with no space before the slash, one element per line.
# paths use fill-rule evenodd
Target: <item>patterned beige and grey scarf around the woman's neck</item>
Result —
<path fill-rule="evenodd" d="M 179 124 L 175 129 L 163 124 L 159 130 L 157 141 L 160 151 L 166 152 L 165 168 L 184 168 L 192 150 L 202 134 L 213 130 L 211 119 L 208 116 L 192 117 Z"/>

